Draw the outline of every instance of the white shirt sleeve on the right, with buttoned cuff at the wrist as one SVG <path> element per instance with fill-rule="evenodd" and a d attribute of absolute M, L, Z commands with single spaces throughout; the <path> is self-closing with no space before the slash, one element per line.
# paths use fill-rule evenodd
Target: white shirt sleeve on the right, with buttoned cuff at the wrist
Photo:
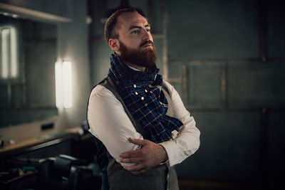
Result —
<path fill-rule="evenodd" d="M 170 166 L 173 166 L 179 164 L 197 151 L 199 148 L 200 132 L 196 127 L 194 118 L 186 110 L 175 88 L 166 81 L 164 81 L 164 85 L 170 92 L 174 117 L 183 123 L 174 139 L 160 143 L 167 152 Z"/>

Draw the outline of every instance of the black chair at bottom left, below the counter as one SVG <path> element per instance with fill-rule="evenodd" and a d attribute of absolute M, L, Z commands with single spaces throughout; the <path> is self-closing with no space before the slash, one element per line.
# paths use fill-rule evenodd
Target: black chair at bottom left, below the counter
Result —
<path fill-rule="evenodd" d="M 60 154 L 41 159 L 38 165 L 36 189 L 100 189 L 101 177 L 75 157 Z"/>

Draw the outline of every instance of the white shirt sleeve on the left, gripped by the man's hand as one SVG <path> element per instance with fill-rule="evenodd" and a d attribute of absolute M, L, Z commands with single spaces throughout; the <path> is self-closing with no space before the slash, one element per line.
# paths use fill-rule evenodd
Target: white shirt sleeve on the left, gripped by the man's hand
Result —
<path fill-rule="evenodd" d="M 120 163 L 120 153 L 140 149 L 128 138 L 143 139 L 142 135 L 136 132 L 120 101 L 102 85 L 97 85 L 90 94 L 88 122 L 89 132 L 103 142 L 117 162 Z"/>

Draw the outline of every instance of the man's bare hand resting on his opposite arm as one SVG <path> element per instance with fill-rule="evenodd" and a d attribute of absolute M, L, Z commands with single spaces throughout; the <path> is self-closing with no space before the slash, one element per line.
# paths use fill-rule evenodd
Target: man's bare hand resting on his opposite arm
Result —
<path fill-rule="evenodd" d="M 142 139 L 128 139 L 133 144 L 138 144 L 142 148 L 131 150 L 120 154 L 120 162 L 135 163 L 133 166 L 124 166 L 123 168 L 131 171 L 133 174 L 142 174 L 148 169 L 157 166 L 167 160 L 165 149 L 155 142 Z"/>

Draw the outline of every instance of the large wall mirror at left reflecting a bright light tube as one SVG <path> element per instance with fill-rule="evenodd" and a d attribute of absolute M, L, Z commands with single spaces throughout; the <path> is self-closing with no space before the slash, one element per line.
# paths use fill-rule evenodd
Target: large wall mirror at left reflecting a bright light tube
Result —
<path fill-rule="evenodd" d="M 58 115 L 57 28 L 0 13 L 0 127 Z"/>

